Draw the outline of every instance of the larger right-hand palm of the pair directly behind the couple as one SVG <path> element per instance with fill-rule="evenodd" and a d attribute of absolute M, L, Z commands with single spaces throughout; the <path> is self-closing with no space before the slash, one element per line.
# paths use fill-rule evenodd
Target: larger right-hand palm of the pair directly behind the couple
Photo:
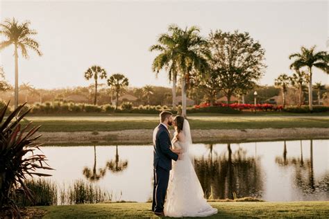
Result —
<path fill-rule="evenodd" d="M 192 74 L 204 73 L 208 67 L 208 62 L 205 58 L 205 56 L 210 56 L 206 48 L 208 43 L 199 35 L 200 29 L 196 26 L 183 30 L 172 24 L 169 26 L 168 32 L 162 34 L 159 41 L 167 42 L 171 46 L 163 47 L 158 44 L 154 47 L 152 46 L 151 51 L 165 51 L 167 55 L 164 55 L 162 58 L 161 56 L 158 57 L 158 60 L 155 58 L 155 62 L 170 60 L 169 73 L 180 76 L 182 82 L 182 116 L 186 116 L 186 91 L 189 86 L 189 79 Z"/>

